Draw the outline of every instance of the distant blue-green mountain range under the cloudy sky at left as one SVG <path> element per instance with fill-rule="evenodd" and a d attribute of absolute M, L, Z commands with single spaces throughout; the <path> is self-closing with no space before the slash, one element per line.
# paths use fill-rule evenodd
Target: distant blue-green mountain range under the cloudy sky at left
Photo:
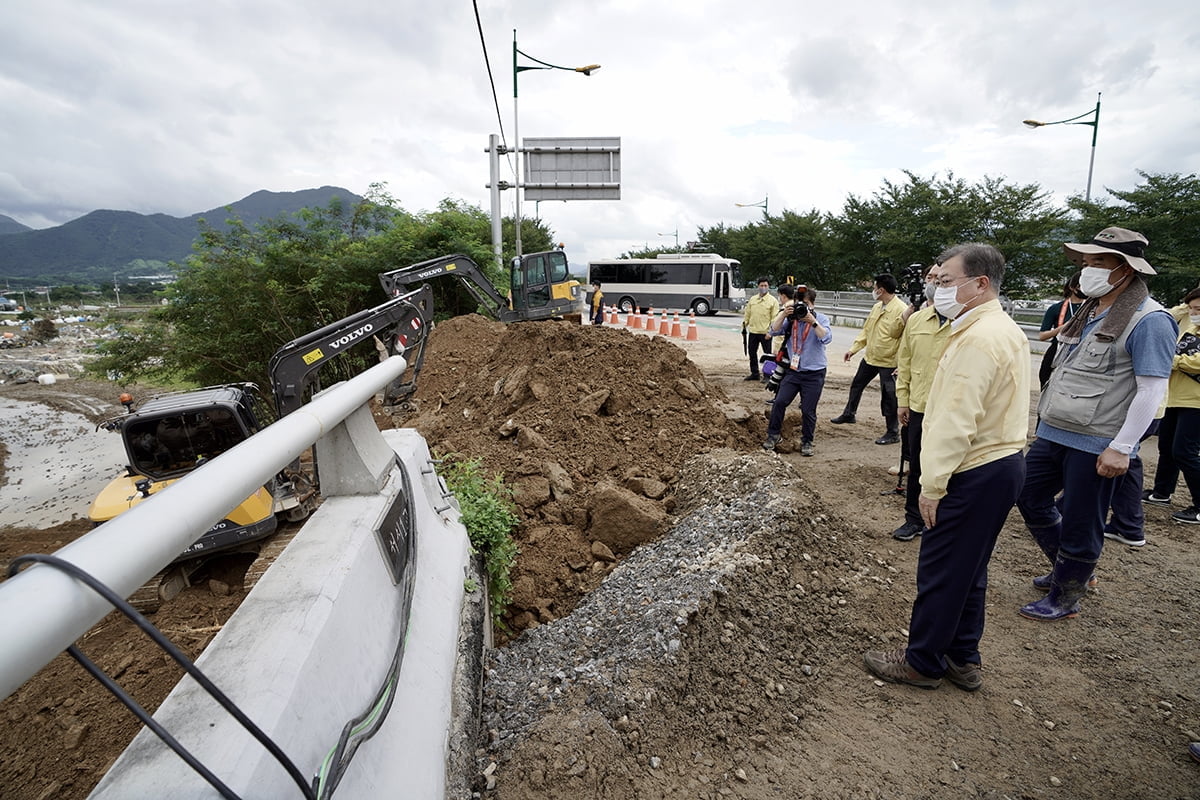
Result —
<path fill-rule="evenodd" d="M 324 207 L 334 198 L 354 204 L 362 198 L 336 186 L 299 192 L 259 191 L 229 205 L 188 217 L 136 211 L 97 210 L 54 228 L 32 229 L 0 215 L 0 278 L 38 282 L 109 281 L 115 271 L 145 270 L 157 263 L 182 261 L 199 235 L 199 222 L 221 229 L 236 217 L 248 225 L 262 219 Z"/>

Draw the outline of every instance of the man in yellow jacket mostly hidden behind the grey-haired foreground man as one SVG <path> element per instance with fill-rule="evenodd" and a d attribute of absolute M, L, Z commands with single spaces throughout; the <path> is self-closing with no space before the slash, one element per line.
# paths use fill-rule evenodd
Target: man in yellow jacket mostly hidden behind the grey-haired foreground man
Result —
<path fill-rule="evenodd" d="M 925 297 L 934 300 L 937 271 L 934 264 L 925 273 Z M 912 541 L 925 530 L 920 518 L 920 440 L 922 422 L 925 419 L 925 403 L 929 389 L 934 385 L 934 373 L 937 361 L 942 357 L 946 343 L 950 338 L 950 320 L 938 313 L 932 305 L 920 311 L 913 306 L 905 309 L 907 318 L 904 336 L 900 337 L 900 351 L 896 354 L 896 405 L 899 405 L 900 432 L 907 447 L 908 486 L 905 491 L 904 524 L 892 531 L 892 537 L 901 542 Z"/>

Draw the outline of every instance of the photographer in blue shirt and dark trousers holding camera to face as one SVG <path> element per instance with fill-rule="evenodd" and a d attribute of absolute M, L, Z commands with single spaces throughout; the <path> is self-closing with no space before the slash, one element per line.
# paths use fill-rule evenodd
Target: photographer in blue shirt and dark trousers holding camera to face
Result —
<path fill-rule="evenodd" d="M 763 450 L 774 450 L 784 428 L 784 414 L 797 395 L 800 396 L 800 455 L 811 456 L 812 438 L 817 427 L 817 403 L 824 389 L 826 347 L 833 341 L 829 318 L 814 309 L 816 289 L 808 287 L 780 287 L 780 295 L 791 297 L 770 323 L 772 336 L 784 337 L 781 361 L 778 369 L 785 369 L 770 407 L 767 423 L 767 441 Z"/>

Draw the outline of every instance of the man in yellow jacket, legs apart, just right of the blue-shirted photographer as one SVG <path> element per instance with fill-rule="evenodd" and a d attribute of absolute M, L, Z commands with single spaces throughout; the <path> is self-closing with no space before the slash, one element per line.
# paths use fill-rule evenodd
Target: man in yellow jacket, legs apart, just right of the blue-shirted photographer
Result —
<path fill-rule="evenodd" d="M 896 279 L 884 272 L 875 276 L 875 305 L 863 323 L 863 331 L 850 345 L 844 361 L 866 349 L 858 365 L 858 372 L 850 384 L 850 397 L 846 408 L 830 422 L 846 425 L 857 422 L 858 402 L 863 399 L 863 390 L 875 375 L 880 377 L 880 411 L 887 421 L 888 429 L 875 440 L 877 445 L 894 445 L 900 441 L 900 422 L 896 417 L 896 350 L 900 349 L 900 336 L 904 333 L 904 312 L 907 306 L 896 296 Z"/>

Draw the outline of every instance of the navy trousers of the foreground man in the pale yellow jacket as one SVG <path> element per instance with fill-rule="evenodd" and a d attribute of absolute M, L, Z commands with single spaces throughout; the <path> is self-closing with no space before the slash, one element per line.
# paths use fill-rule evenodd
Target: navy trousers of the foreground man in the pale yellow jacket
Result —
<path fill-rule="evenodd" d="M 988 561 L 1024 480 L 1021 453 L 950 476 L 917 560 L 907 660 L 923 675 L 943 675 L 946 657 L 980 663 Z"/>

